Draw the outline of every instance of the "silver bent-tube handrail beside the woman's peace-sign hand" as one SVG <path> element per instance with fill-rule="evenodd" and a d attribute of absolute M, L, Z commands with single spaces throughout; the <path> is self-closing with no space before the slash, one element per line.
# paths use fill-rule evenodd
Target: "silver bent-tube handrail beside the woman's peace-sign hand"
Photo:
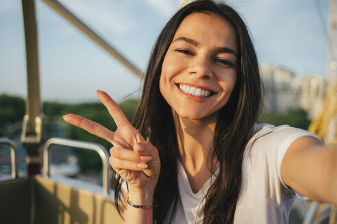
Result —
<path fill-rule="evenodd" d="M 51 138 L 49 139 L 46 144 L 45 148 L 43 148 L 43 174 L 45 177 L 49 178 L 49 150 L 50 146 L 54 145 L 66 145 L 71 146 L 74 148 L 83 148 L 86 150 L 93 150 L 99 154 L 102 160 L 103 165 L 103 194 L 108 195 L 110 193 L 110 172 L 108 164 L 109 164 L 109 157 L 107 150 L 102 145 L 97 143 L 90 143 L 86 141 L 77 141 L 71 139 L 63 139 L 63 138 Z"/>

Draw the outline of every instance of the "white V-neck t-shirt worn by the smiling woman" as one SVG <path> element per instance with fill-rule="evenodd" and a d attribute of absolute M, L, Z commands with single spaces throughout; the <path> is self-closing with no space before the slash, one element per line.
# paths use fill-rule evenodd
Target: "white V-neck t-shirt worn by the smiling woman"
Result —
<path fill-rule="evenodd" d="M 242 161 L 242 187 L 236 204 L 234 223 L 288 223 L 295 195 L 281 178 L 281 163 L 289 145 L 305 135 L 306 130 L 290 126 L 275 128 L 255 124 L 255 135 L 245 149 Z M 217 175 L 215 173 L 214 175 Z M 198 193 L 193 193 L 184 168 L 178 163 L 179 200 L 175 224 L 195 224 L 203 218 L 204 197 L 214 180 L 210 178 Z M 167 223 L 171 212 L 166 217 Z"/>

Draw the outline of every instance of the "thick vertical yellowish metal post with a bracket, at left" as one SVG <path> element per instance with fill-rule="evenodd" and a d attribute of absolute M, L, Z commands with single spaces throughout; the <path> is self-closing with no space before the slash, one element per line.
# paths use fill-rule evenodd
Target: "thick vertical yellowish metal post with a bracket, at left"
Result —
<path fill-rule="evenodd" d="M 40 143 L 42 117 L 40 107 L 40 79 L 38 71 L 38 28 L 36 24 L 35 1 L 22 0 L 23 24 L 27 64 L 26 112 L 23 117 L 21 142 L 27 150 L 28 176 L 40 173 Z"/>

